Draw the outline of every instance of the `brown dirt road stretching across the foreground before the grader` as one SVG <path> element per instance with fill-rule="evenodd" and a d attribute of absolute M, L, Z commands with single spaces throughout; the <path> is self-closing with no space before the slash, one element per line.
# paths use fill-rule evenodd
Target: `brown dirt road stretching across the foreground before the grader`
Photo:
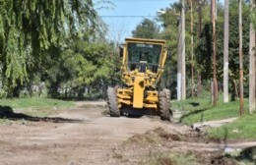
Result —
<path fill-rule="evenodd" d="M 233 163 L 220 141 L 159 117 L 110 118 L 104 104 L 78 102 L 75 109 L 24 120 L 14 111 L 12 122 L 0 125 L 0 164 L 148 164 L 149 155 L 169 151 L 193 153 L 202 164 Z"/>

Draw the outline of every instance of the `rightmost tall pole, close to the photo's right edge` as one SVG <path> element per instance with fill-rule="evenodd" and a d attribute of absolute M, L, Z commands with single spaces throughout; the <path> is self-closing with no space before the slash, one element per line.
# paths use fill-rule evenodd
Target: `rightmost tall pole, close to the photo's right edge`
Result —
<path fill-rule="evenodd" d="M 243 109 L 243 60 L 242 60 L 242 0 L 239 3 L 239 95 L 240 95 L 240 116 L 244 114 Z"/>

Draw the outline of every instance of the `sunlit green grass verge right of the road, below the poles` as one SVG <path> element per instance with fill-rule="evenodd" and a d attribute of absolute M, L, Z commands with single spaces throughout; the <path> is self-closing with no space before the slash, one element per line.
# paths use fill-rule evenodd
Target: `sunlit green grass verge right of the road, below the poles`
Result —
<path fill-rule="evenodd" d="M 220 128 L 208 129 L 208 136 L 222 139 L 256 139 L 256 114 L 248 114 L 248 99 L 244 99 L 244 117 L 240 117 L 239 114 L 239 101 L 229 103 L 219 101 L 218 106 L 214 107 L 208 98 L 194 98 L 174 101 L 172 109 L 182 112 L 180 122 L 187 125 L 238 117 L 234 122 Z"/>

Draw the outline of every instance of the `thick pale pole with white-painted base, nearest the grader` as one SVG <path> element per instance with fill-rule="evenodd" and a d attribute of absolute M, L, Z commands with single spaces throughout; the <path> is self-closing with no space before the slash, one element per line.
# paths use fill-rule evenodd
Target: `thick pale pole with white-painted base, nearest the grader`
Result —
<path fill-rule="evenodd" d="M 185 61 L 185 1 L 181 3 L 181 18 L 178 27 L 178 73 L 177 100 L 186 99 L 186 61 Z"/>

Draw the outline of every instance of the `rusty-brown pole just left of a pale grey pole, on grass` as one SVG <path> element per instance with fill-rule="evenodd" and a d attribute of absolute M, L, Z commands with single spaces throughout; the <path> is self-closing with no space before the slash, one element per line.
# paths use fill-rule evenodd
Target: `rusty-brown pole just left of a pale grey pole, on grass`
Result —
<path fill-rule="evenodd" d="M 217 83 L 217 60 L 216 60 L 216 0 L 212 0 L 212 24 L 213 24 L 213 74 L 214 74 L 214 106 L 217 106 L 218 83 Z"/>

